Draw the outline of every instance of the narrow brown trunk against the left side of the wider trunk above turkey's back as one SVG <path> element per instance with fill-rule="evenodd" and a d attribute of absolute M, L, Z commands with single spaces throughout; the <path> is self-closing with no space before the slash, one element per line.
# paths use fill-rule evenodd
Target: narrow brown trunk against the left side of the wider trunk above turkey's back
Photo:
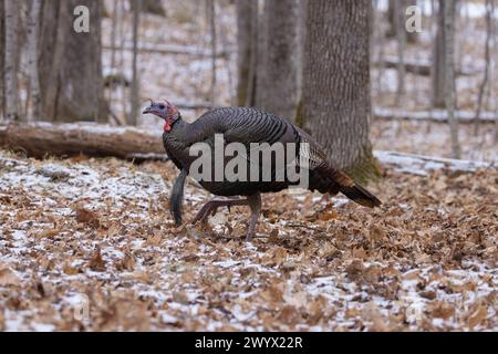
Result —
<path fill-rule="evenodd" d="M 256 91 L 258 1 L 236 0 L 237 8 L 237 104 L 252 105 Z"/>

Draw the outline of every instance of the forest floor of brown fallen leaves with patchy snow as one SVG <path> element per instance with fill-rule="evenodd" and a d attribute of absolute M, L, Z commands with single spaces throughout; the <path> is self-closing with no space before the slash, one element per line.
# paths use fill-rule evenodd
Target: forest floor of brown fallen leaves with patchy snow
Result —
<path fill-rule="evenodd" d="M 425 171 L 423 171 L 425 173 Z M 170 163 L 0 152 L 0 329 L 498 331 L 498 171 L 385 166 L 383 206 L 280 192 L 176 228 Z M 185 221 L 209 198 L 188 184 Z"/>

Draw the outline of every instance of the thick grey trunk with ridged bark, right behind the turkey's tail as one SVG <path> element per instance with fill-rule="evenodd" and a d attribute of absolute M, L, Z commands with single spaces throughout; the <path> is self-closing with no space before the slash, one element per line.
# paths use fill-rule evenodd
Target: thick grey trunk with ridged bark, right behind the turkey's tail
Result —
<path fill-rule="evenodd" d="M 309 1 L 304 51 L 304 126 L 359 179 L 377 173 L 369 140 L 371 11 L 369 0 Z"/>

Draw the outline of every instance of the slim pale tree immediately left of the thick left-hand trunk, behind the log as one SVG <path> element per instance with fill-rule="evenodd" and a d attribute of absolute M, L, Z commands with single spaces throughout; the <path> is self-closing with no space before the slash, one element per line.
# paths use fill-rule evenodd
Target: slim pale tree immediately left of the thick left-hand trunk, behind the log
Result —
<path fill-rule="evenodd" d="M 38 119 L 41 112 L 40 77 L 38 73 L 38 37 L 42 0 L 32 0 L 28 18 L 28 67 L 30 76 L 30 96 L 32 103 L 30 119 Z"/>

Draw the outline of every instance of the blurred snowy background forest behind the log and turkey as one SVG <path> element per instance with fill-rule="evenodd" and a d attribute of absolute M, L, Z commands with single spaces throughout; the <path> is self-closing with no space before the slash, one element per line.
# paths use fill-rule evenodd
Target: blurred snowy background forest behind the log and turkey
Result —
<path fill-rule="evenodd" d="M 371 139 L 376 149 L 496 160 L 497 10 L 491 0 L 455 1 L 453 13 L 443 3 L 372 1 Z M 79 4 L 91 11 L 91 33 L 72 30 Z M 157 121 L 141 106 L 167 98 L 190 119 L 214 106 L 252 105 L 307 126 L 323 108 L 299 116 L 303 96 L 338 94 L 312 92 L 317 79 L 303 67 L 305 1 L 34 0 L 4 1 L 0 11 L 4 121 L 152 127 Z M 418 14 L 419 28 L 404 30 Z"/>

